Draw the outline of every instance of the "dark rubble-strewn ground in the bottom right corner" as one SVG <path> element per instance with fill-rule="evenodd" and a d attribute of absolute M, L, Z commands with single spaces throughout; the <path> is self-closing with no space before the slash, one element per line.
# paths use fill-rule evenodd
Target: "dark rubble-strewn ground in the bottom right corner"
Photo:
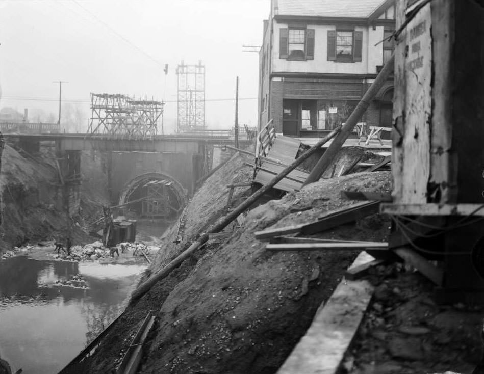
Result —
<path fill-rule="evenodd" d="M 472 372 L 482 309 L 437 305 L 431 282 L 400 264 L 377 266 L 366 278 L 376 290 L 350 349 L 349 374 Z"/>

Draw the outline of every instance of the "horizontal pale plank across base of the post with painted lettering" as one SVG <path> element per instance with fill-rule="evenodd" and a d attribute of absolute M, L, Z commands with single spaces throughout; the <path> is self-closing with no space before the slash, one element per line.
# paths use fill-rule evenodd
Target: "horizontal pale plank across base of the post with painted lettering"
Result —
<path fill-rule="evenodd" d="M 390 204 L 382 203 L 380 212 L 396 216 L 484 216 L 482 204 Z"/>

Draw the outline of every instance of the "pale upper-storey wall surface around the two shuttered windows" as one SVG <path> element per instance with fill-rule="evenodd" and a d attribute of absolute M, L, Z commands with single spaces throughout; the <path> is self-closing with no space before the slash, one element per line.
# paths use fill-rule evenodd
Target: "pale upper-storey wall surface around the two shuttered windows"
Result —
<path fill-rule="evenodd" d="M 274 37 L 272 48 L 273 72 L 293 73 L 332 73 L 332 74 L 376 74 L 376 66 L 383 64 L 383 43 L 375 44 L 383 39 L 383 26 L 355 26 L 355 31 L 363 32 L 363 48 L 361 62 L 327 61 L 327 32 L 336 30 L 336 25 L 307 24 L 308 29 L 315 30 L 314 60 L 289 61 L 279 59 L 279 34 L 281 29 L 287 29 L 288 23 L 274 22 Z"/>

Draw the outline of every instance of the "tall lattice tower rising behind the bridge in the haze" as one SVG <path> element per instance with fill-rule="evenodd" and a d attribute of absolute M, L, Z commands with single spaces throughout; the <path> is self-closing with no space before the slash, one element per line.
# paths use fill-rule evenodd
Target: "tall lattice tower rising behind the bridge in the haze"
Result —
<path fill-rule="evenodd" d="M 176 69 L 178 76 L 178 132 L 205 128 L 205 66 L 185 65 Z"/>

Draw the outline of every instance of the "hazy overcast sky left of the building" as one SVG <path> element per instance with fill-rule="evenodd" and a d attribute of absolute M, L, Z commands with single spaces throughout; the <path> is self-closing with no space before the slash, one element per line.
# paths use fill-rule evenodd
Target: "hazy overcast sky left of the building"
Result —
<path fill-rule="evenodd" d="M 166 101 L 164 124 L 176 124 L 176 74 L 206 66 L 206 124 L 257 125 L 258 54 L 270 0 L 0 0 L 0 108 L 41 108 L 57 119 L 64 102 L 90 114 L 90 92 L 147 95 Z M 168 75 L 163 72 L 169 65 Z M 41 101 L 42 100 L 42 101 Z"/>

